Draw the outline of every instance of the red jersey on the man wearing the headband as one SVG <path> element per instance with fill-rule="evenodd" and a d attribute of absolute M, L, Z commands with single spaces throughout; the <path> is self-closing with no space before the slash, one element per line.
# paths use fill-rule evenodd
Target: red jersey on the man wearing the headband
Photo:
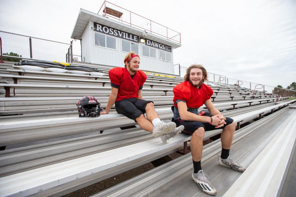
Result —
<path fill-rule="evenodd" d="M 138 90 L 143 86 L 147 75 L 138 70 L 131 78 L 126 67 L 116 67 L 109 70 L 111 83 L 119 86 L 116 101 L 126 98 L 138 98 Z"/>

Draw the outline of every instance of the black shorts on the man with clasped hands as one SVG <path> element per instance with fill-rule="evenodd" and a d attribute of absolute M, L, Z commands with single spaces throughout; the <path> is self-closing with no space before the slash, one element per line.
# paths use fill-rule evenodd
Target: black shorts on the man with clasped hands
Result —
<path fill-rule="evenodd" d="M 224 126 L 220 128 L 215 128 L 216 126 L 211 125 L 210 123 L 201 123 L 197 121 L 187 121 L 187 120 L 181 120 L 181 119 L 175 120 L 174 118 L 172 118 L 172 122 L 176 123 L 177 127 L 179 127 L 180 125 L 184 126 L 184 130 L 182 131 L 182 133 L 187 135 L 192 135 L 194 131 L 196 131 L 199 127 L 204 127 L 204 131 L 224 129 L 227 125 L 233 122 L 233 119 L 228 117 L 225 117 L 225 118 L 226 118 L 225 120 L 226 124 L 224 124 Z"/>

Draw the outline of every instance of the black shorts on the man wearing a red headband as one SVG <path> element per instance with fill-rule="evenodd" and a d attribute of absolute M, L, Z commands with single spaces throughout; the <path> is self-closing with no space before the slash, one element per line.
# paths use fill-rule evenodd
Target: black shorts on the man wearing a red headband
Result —
<path fill-rule="evenodd" d="M 141 114 L 145 114 L 145 108 L 147 103 L 153 103 L 152 101 L 146 101 L 138 98 L 127 98 L 115 102 L 115 109 L 118 114 L 123 114 L 129 119 L 136 121 Z"/>

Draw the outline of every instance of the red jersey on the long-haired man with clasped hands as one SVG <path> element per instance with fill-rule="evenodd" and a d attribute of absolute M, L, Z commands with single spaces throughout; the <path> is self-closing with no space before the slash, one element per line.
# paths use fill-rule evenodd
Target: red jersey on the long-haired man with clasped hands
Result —
<path fill-rule="evenodd" d="M 176 85 L 173 89 L 174 92 L 174 106 L 177 106 L 177 99 L 186 101 L 187 107 L 199 108 L 206 100 L 210 99 L 213 95 L 213 90 L 210 86 L 202 83 L 199 88 L 192 86 L 189 81 L 185 81 Z"/>

